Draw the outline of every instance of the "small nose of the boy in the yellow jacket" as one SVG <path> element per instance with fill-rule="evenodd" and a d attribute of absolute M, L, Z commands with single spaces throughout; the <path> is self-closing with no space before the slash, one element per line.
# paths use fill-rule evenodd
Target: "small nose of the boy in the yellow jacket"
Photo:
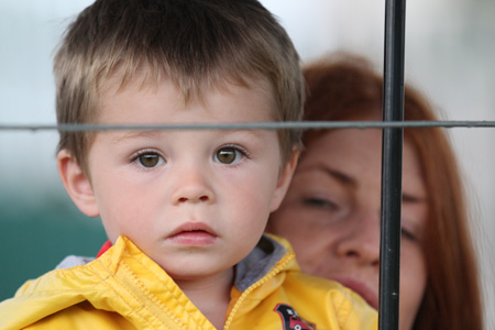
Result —
<path fill-rule="evenodd" d="M 212 202 L 215 195 L 205 172 L 200 166 L 187 166 L 176 173 L 177 184 L 172 194 L 172 202 L 174 205 Z"/>

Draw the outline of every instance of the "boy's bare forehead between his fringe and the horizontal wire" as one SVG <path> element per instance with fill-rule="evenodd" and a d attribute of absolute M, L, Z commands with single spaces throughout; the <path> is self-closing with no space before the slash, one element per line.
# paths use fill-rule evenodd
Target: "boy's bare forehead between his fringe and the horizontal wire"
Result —
<path fill-rule="evenodd" d="M 270 82 L 264 79 L 238 82 L 226 78 L 221 85 L 206 85 L 205 89 L 187 96 L 180 86 L 168 77 L 162 76 L 160 80 L 146 78 L 145 75 L 140 75 L 123 81 L 121 77 L 112 76 L 101 84 L 97 120 L 128 124 L 144 121 L 150 124 L 158 121 L 196 121 L 195 118 L 182 113 L 183 110 L 196 111 L 198 116 L 208 113 L 201 117 L 206 118 L 201 122 L 211 123 L 263 122 L 277 119 L 277 102 Z M 155 113 L 154 119 L 151 113 Z"/>

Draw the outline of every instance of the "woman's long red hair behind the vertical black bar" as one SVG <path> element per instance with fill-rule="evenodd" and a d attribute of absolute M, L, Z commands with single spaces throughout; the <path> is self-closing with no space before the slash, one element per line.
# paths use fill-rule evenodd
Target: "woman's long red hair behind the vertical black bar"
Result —
<path fill-rule="evenodd" d="M 308 94 L 305 120 L 342 121 L 382 109 L 382 75 L 362 57 L 339 53 L 306 66 L 304 75 Z M 407 85 L 404 109 L 406 121 L 437 120 L 425 98 Z M 463 184 L 443 130 L 404 130 L 404 139 L 411 142 L 421 164 L 429 201 L 424 244 L 428 283 L 414 329 L 481 330 L 477 262 Z M 323 133 L 306 131 L 302 135 L 306 147 Z"/>

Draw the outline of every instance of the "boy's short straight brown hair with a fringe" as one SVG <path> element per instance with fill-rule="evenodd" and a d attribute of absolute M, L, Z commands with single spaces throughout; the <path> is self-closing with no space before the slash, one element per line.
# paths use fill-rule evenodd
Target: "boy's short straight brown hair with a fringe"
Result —
<path fill-rule="evenodd" d="M 120 87 L 167 77 L 184 100 L 200 99 L 227 82 L 270 82 L 275 121 L 300 120 L 304 78 L 285 30 L 257 1 L 97 0 L 65 33 L 54 61 L 57 122 L 96 123 L 99 92 L 108 79 Z M 112 80 L 113 81 L 113 80 Z M 86 169 L 92 134 L 61 131 Z M 299 144 L 297 130 L 279 131 L 284 161 Z"/>

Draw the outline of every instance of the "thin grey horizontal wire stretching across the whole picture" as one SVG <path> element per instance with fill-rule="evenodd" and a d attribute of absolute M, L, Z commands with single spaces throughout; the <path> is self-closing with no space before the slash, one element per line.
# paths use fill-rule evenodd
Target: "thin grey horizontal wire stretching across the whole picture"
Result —
<path fill-rule="evenodd" d="M 385 128 L 495 128 L 495 121 L 301 121 L 176 124 L 0 124 L 0 131 L 112 131 L 112 130 L 320 130 Z"/>

